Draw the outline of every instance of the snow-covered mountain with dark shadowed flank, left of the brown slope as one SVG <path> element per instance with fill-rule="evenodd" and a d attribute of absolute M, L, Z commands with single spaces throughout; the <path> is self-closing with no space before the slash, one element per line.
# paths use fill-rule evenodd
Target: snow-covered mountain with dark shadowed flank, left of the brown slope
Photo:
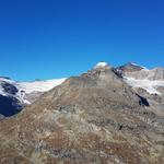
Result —
<path fill-rule="evenodd" d="M 9 78 L 0 78 L 0 115 L 12 116 L 37 97 L 61 84 L 66 79 L 46 81 L 16 82 Z M 1 118 L 0 117 L 0 118 Z"/>

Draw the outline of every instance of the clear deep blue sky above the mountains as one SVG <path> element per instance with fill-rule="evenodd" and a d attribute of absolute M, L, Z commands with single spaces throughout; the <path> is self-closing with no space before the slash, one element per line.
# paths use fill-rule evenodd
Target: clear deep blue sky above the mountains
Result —
<path fill-rule="evenodd" d="M 98 61 L 164 66 L 164 1 L 0 0 L 0 75 L 70 77 Z"/>

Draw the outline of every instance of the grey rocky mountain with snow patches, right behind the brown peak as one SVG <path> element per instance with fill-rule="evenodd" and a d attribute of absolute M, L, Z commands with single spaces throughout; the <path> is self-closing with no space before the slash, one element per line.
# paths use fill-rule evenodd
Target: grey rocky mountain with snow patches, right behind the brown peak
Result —
<path fill-rule="evenodd" d="M 129 62 L 118 67 L 125 81 L 134 89 L 143 89 L 149 94 L 164 94 L 164 68 L 154 68 L 152 70 L 145 67 Z"/>

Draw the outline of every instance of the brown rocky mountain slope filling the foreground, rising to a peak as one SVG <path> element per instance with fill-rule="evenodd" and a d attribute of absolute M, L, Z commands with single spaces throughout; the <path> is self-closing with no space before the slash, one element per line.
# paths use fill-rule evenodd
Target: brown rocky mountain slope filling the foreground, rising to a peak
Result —
<path fill-rule="evenodd" d="M 96 67 L 2 120 L 0 163 L 162 164 L 159 104 L 139 95 L 118 69 Z"/>

